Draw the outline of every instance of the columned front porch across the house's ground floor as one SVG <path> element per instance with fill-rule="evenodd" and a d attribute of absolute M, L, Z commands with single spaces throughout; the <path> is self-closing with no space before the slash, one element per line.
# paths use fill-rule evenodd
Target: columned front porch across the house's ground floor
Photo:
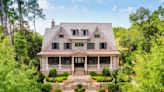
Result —
<path fill-rule="evenodd" d="M 82 74 L 89 74 L 91 71 L 101 73 L 104 67 L 113 71 L 119 67 L 119 57 L 116 55 L 73 55 L 73 56 L 42 56 L 40 71 L 47 74 L 52 68 L 57 69 L 58 74 L 68 72 L 75 74 L 78 70 Z"/>

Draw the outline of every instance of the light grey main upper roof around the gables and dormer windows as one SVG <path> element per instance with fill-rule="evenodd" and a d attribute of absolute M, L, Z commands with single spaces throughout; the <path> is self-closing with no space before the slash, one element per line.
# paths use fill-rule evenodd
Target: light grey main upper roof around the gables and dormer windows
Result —
<path fill-rule="evenodd" d="M 53 38 L 53 36 L 57 34 L 61 27 L 63 28 L 63 31 L 66 32 L 66 34 L 70 37 L 69 39 L 90 39 L 98 28 L 107 42 L 110 43 L 113 50 L 116 50 L 115 38 L 111 23 L 61 23 L 60 25 L 56 25 L 53 29 L 46 28 L 42 50 L 45 49 L 46 45 Z M 71 29 L 88 29 L 89 34 L 87 36 L 72 36 Z"/>

